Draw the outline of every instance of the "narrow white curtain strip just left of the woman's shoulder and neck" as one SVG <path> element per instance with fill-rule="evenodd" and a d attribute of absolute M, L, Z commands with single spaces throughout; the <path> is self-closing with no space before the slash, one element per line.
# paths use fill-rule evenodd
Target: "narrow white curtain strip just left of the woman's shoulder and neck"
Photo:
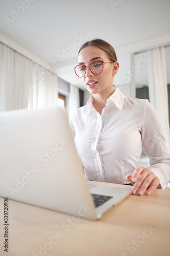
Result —
<path fill-rule="evenodd" d="M 79 88 L 70 84 L 69 92 L 69 117 L 80 107 Z"/>

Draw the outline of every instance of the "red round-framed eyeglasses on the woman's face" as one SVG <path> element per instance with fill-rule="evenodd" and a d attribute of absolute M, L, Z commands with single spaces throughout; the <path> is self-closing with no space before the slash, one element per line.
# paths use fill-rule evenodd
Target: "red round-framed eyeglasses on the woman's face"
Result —
<path fill-rule="evenodd" d="M 75 67 L 75 73 L 78 77 L 83 77 L 86 74 L 87 71 L 87 67 L 90 68 L 90 71 L 94 74 L 94 75 L 99 75 L 102 73 L 103 71 L 103 63 L 104 62 L 114 62 L 114 61 L 109 61 L 109 60 L 98 60 L 98 61 L 93 61 L 91 62 L 90 65 L 85 66 L 83 64 L 77 65 Z"/>

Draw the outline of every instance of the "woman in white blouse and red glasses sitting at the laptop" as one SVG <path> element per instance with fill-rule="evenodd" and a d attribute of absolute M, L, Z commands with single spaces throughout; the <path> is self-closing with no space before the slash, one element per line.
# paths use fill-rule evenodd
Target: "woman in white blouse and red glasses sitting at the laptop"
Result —
<path fill-rule="evenodd" d="M 125 97 L 114 87 L 119 63 L 108 42 L 86 42 L 78 62 L 76 75 L 92 94 L 70 120 L 85 177 L 133 184 L 132 194 L 151 195 L 170 179 L 170 157 L 155 110 L 148 100 Z M 142 147 L 149 168 L 139 167 Z"/>

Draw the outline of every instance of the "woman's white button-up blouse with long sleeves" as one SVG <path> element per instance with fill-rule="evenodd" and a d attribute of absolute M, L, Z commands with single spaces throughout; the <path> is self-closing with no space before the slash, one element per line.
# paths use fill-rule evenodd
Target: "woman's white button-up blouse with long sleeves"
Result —
<path fill-rule="evenodd" d="M 143 151 L 163 187 L 170 180 L 170 155 L 161 124 L 146 99 L 125 97 L 118 88 L 100 115 L 92 105 L 79 108 L 70 119 L 75 145 L 89 180 L 129 183 L 127 174 L 140 166 Z"/>

